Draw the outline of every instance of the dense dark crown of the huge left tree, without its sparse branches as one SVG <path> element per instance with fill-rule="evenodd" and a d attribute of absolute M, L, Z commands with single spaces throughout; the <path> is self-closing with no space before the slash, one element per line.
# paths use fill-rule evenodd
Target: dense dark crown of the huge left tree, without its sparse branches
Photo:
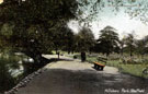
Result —
<path fill-rule="evenodd" d="M 76 0 L 4 0 L 0 4 L 0 28 L 8 24 L 12 33 L 9 39 L 1 33 L 1 40 L 35 62 L 44 62 L 42 54 L 56 44 L 53 31 L 60 32 L 76 16 L 77 5 Z"/>

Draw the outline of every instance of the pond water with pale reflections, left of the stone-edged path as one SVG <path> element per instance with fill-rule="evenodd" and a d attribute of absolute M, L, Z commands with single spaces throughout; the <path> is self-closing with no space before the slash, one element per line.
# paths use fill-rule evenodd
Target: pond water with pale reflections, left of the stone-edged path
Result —
<path fill-rule="evenodd" d="M 33 59 L 24 55 L 1 55 L 0 56 L 0 93 L 12 89 L 25 75 L 29 75 L 34 70 L 27 71 L 30 66 L 25 63 L 33 63 Z M 9 84 L 9 85 L 8 85 Z"/>

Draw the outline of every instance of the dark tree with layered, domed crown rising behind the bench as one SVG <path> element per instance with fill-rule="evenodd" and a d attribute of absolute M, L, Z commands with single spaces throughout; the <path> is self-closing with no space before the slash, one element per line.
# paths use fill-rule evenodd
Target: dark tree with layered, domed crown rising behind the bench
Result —
<path fill-rule="evenodd" d="M 115 28 L 112 26 L 104 27 L 100 33 L 98 39 L 98 47 L 100 52 L 106 54 L 109 56 L 111 52 L 118 52 L 118 34 L 114 32 Z"/>

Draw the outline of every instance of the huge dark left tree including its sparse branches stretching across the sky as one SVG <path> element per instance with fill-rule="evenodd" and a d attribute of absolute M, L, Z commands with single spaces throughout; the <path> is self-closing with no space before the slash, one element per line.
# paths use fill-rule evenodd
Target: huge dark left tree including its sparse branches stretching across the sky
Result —
<path fill-rule="evenodd" d="M 1 36 L 8 45 L 41 62 L 41 55 L 53 47 L 52 31 L 59 31 L 70 19 L 92 20 L 105 8 L 105 3 L 111 4 L 113 11 L 130 4 L 125 8 L 125 12 L 130 16 L 140 16 L 140 20 L 146 22 L 147 3 L 143 0 L 4 0 L 0 4 L 0 27 L 4 24 L 13 27 L 11 37 Z M 135 3 L 138 9 L 132 7 Z M 87 9 L 89 10 L 86 11 Z"/>

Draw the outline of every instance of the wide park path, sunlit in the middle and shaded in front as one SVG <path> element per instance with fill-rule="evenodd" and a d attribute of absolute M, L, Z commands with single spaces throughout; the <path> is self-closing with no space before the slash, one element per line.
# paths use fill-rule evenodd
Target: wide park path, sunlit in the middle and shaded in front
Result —
<path fill-rule="evenodd" d="M 47 64 L 45 72 L 16 94 L 148 94 L 147 80 L 122 74 L 113 67 L 96 71 L 91 63 L 60 58 L 65 60 Z"/>

